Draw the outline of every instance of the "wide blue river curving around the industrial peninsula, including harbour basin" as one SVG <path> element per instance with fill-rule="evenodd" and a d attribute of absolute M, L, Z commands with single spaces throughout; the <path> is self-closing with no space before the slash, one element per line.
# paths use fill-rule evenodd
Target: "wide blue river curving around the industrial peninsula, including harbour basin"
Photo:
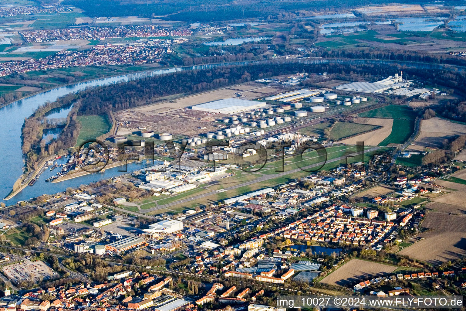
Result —
<path fill-rule="evenodd" d="M 328 63 L 336 62 L 338 60 L 329 59 L 288 59 L 288 60 L 277 60 L 277 62 L 292 63 L 292 62 L 303 62 L 303 63 Z M 87 87 L 93 87 L 108 83 L 117 83 L 123 81 L 130 81 L 134 79 L 140 79 L 148 76 L 157 76 L 165 73 L 171 73 L 181 70 L 192 70 L 192 69 L 208 69 L 218 66 L 228 65 L 241 65 L 256 62 L 269 62 L 269 61 L 247 61 L 247 62 L 230 62 L 230 63 L 219 63 L 209 65 L 197 65 L 190 67 L 180 67 L 171 69 L 158 69 L 152 71 L 139 72 L 134 74 L 128 74 L 123 76 L 114 76 L 109 78 L 97 79 L 88 82 L 76 83 L 68 86 L 55 88 L 52 90 L 43 91 L 31 97 L 18 100 L 12 104 L 0 108 L 0 132 L 3 133 L 3 142 L 5 146 L 2 152 L 0 152 L 0 197 L 6 197 L 14 182 L 23 173 L 23 155 L 21 152 L 21 127 L 24 124 L 24 119 L 29 117 L 40 105 L 46 101 L 55 101 L 58 97 L 62 97 L 71 92 L 77 92 Z M 373 62 L 378 64 L 393 64 L 399 63 L 409 67 L 418 68 L 429 68 L 436 69 L 441 68 L 441 65 L 430 65 L 415 62 L 391 62 L 391 61 L 366 61 L 366 60 L 339 60 L 339 62 L 348 62 L 351 64 Z M 453 67 L 453 66 L 452 66 Z M 50 115 L 48 117 L 63 117 L 63 112 L 66 110 L 57 110 L 57 115 Z M 137 164 L 132 164 L 128 167 L 129 169 L 136 170 L 141 167 Z M 82 177 L 78 177 L 72 180 L 60 182 L 60 183 L 45 183 L 47 174 L 43 174 L 41 178 L 34 184 L 34 186 L 28 186 L 22 190 L 19 194 L 16 194 L 14 198 L 10 200 L 3 200 L 7 205 L 14 204 L 16 201 L 29 200 L 32 197 L 37 197 L 42 194 L 55 194 L 60 191 L 64 191 L 67 187 L 77 187 L 82 184 L 89 184 L 101 179 L 107 179 L 123 173 L 118 172 L 118 168 L 108 169 L 105 173 L 89 174 Z M 49 174 L 48 174 L 49 175 Z M 1 201 L 1 200 L 0 200 Z"/>

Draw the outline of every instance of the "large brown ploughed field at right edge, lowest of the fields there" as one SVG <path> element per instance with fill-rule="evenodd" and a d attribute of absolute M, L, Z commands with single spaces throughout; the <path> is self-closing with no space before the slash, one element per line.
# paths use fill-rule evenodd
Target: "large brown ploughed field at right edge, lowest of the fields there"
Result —
<path fill-rule="evenodd" d="M 424 239 L 402 249 L 397 255 L 410 256 L 432 265 L 466 256 L 466 232 L 437 230 L 420 234 L 418 237 Z"/>

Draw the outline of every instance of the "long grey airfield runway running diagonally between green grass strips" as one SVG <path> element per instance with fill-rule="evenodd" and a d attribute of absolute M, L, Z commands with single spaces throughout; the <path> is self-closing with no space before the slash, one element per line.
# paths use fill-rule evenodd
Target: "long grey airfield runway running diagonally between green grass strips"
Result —
<path fill-rule="evenodd" d="M 376 151 L 377 149 L 379 149 L 379 148 L 378 148 L 378 147 L 372 147 L 372 148 L 369 148 L 369 149 L 364 150 L 364 153 L 365 153 L 365 152 Z M 304 166 L 302 169 L 309 169 L 309 168 L 313 168 L 313 167 L 316 167 L 316 166 L 322 166 L 322 165 L 325 165 L 325 164 L 327 164 L 327 163 L 338 162 L 338 161 L 341 161 L 341 160 L 346 159 L 346 158 L 349 157 L 349 156 L 356 156 L 356 155 L 361 154 L 361 153 L 362 153 L 362 152 L 354 152 L 354 153 L 352 153 L 352 154 L 350 154 L 350 155 L 344 155 L 344 156 L 341 156 L 341 157 L 338 157 L 338 158 L 335 158 L 335 159 L 331 159 L 331 160 L 327 160 L 327 161 L 322 161 L 322 162 L 319 162 L 319 163 L 311 164 L 311 165 L 309 165 L 309 166 Z M 259 177 L 259 178 L 246 181 L 246 182 L 241 183 L 241 184 L 239 184 L 239 185 L 235 185 L 235 186 L 231 186 L 231 187 L 226 187 L 226 188 L 224 188 L 223 190 L 224 190 L 224 191 L 228 191 L 228 190 L 233 190 L 233 189 L 236 189 L 236 188 L 240 188 L 240 187 L 244 187 L 244 186 L 248 186 L 248 185 L 260 183 L 261 181 L 266 181 L 266 180 L 269 180 L 269 179 L 272 179 L 272 178 L 281 177 L 281 176 L 285 176 L 285 175 L 288 175 L 288 174 L 301 172 L 302 169 L 301 169 L 301 168 L 296 168 L 296 169 L 294 169 L 294 170 L 290 170 L 290 171 L 287 171 L 287 172 L 281 172 L 281 173 L 277 173 L 277 174 L 273 174 L 273 175 L 262 175 L 262 176 Z M 179 203 L 186 203 L 186 202 L 190 202 L 190 201 L 193 201 L 193 200 L 202 199 L 202 198 L 205 198 L 205 197 L 207 197 L 207 196 L 209 196 L 209 195 L 218 194 L 218 193 L 219 193 L 218 191 L 211 191 L 211 192 L 208 192 L 208 193 L 206 193 L 206 194 L 199 194 L 199 195 L 196 195 L 196 196 L 193 196 L 193 197 L 190 197 L 190 198 L 178 200 L 178 201 L 176 201 L 176 204 L 179 204 Z M 165 205 L 159 205 L 159 206 L 157 206 L 157 207 L 152 207 L 152 208 L 146 209 L 146 212 L 152 212 L 152 211 L 156 211 L 156 210 L 161 209 L 161 208 L 170 207 L 170 206 L 173 205 L 173 204 L 174 204 L 174 203 L 169 203 L 169 204 L 165 204 Z"/>

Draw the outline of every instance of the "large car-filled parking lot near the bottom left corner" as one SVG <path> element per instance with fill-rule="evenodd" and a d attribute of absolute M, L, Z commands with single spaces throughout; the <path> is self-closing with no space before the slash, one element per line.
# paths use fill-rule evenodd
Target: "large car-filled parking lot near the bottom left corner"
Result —
<path fill-rule="evenodd" d="M 34 281 L 47 280 L 56 272 L 42 261 L 13 263 L 2 268 L 3 274 L 11 281 L 20 282 L 34 279 Z"/>

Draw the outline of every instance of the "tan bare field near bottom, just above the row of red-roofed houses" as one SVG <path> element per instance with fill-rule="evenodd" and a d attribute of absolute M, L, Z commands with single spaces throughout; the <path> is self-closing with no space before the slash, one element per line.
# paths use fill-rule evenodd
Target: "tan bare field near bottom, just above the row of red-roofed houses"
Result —
<path fill-rule="evenodd" d="M 321 283 L 352 287 L 362 280 L 370 279 L 379 274 L 391 273 L 397 270 L 397 268 L 397 266 L 390 264 L 353 258 L 328 276 L 325 276 L 321 280 Z"/>

